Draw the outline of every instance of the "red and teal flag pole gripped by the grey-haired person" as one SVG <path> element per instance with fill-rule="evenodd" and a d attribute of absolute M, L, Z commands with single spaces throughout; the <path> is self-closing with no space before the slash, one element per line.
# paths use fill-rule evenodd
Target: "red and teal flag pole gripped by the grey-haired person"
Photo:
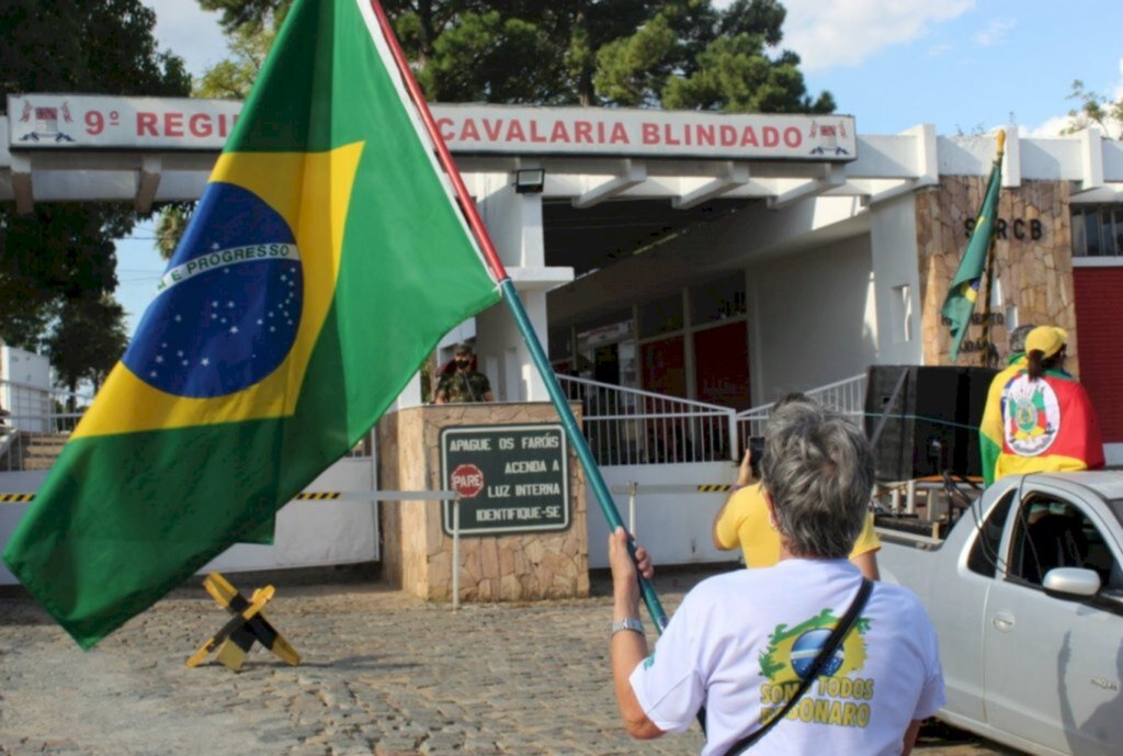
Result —
<path fill-rule="evenodd" d="M 519 299 L 519 294 L 514 289 L 514 283 L 508 275 L 506 267 L 503 265 L 503 261 L 500 259 L 499 253 L 495 252 L 495 245 L 492 244 L 491 236 L 487 234 L 487 228 L 480 218 L 480 212 L 476 210 L 475 202 L 473 202 L 472 198 L 468 195 L 468 190 L 464 185 L 460 172 L 457 170 L 456 163 L 453 162 L 453 155 L 448 152 L 448 146 L 445 145 L 445 140 L 440 136 L 440 130 L 437 128 L 437 121 L 429 111 L 429 104 L 426 102 L 424 95 L 421 93 L 421 88 L 413 78 L 413 72 L 410 70 L 401 45 L 398 44 L 398 37 L 394 35 L 393 27 L 390 25 L 390 19 L 378 0 L 371 0 L 371 8 L 374 10 L 374 15 L 378 19 L 378 26 L 382 27 L 383 37 L 386 39 L 386 44 L 390 46 L 391 53 L 394 56 L 398 73 L 401 75 L 402 82 L 405 84 L 410 100 L 412 100 L 413 106 L 421 116 L 426 130 L 429 131 L 429 137 L 432 139 L 432 143 L 437 148 L 437 157 L 440 165 L 444 167 L 445 173 L 453 182 L 453 188 L 456 191 L 456 199 L 460 204 L 460 211 L 464 213 L 468 222 L 468 227 L 475 234 L 476 239 L 480 243 L 484 259 L 487 262 L 489 267 L 491 267 L 492 273 L 499 281 L 500 291 L 503 293 L 503 301 L 506 302 L 511 313 L 514 316 L 515 325 L 519 328 L 519 333 L 522 334 L 522 338 L 526 340 L 527 347 L 530 349 L 530 356 L 535 362 L 535 366 L 542 376 L 542 382 L 546 384 L 546 391 L 550 395 L 550 401 L 554 403 L 554 408 L 557 410 L 558 417 L 562 419 L 562 425 L 565 426 L 566 435 L 569 437 L 569 443 L 573 444 L 574 450 L 577 453 L 577 458 L 581 461 L 581 465 L 585 470 L 585 477 L 592 486 L 593 493 L 596 495 L 596 501 L 601 507 L 601 511 L 604 513 L 604 519 L 609 523 L 609 529 L 627 529 L 623 520 L 620 518 L 620 512 L 617 510 L 615 503 L 612 501 L 612 494 L 609 492 L 609 486 L 605 484 L 604 477 L 601 475 L 601 470 L 597 467 L 596 461 L 593 458 L 593 453 L 588 448 L 588 443 L 585 440 L 585 437 L 581 432 L 581 428 L 577 426 L 577 419 L 574 417 L 573 410 L 569 409 L 569 402 L 562 392 L 562 386 L 558 385 L 557 377 L 554 375 L 549 359 L 546 356 L 546 352 L 542 349 L 541 343 L 538 340 L 538 335 L 535 333 L 530 318 L 527 316 L 527 311 L 522 307 L 522 301 Z M 634 561 L 636 546 L 631 538 L 628 539 L 628 552 Z M 640 594 L 643 596 L 643 603 L 647 605 L 647 611 L 651 616 L 651 621 L 655 622 L 658 631 L 663 632 L 664 628 L 667 627 L 667 613 L 664 611 L 663 604 L 659 602 L 659 596 L 655 594 L 655 588 L 651 585 L 651 582 L 642 575 L 638 575 L 638 577 Z"/>

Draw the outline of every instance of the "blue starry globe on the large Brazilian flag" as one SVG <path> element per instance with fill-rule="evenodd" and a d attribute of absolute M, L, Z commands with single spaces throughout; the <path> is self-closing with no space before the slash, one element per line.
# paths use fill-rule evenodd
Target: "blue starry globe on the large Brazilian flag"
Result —
<path fill-rule="evenodd" d="M 179 397 L 246 389 L 284 362 L 304 297 L 289 224 L 253 192 L 208 184 L 194 222 L 122 357 L 140 380 Z"/>

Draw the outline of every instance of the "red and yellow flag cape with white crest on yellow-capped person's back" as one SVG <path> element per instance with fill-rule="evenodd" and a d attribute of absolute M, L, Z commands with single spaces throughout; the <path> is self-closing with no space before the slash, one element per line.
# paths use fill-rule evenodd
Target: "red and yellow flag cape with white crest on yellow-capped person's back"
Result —
<path fill-rule="evenodd" d="M 1002 392 L 1002 423 L 995 480 L 1104 466 L 1096 411 L 1084 386 L 1068 373 L 1047 371 L 1032 381 L 1021 371 L 1010 379 Z"/>

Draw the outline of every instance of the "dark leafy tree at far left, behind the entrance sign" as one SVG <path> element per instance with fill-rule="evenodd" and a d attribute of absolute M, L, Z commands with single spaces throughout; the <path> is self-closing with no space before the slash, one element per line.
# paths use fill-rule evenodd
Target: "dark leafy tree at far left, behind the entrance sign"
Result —
<path fill-rule="evenodd" d="M 183 62 L 157 51 L 155 13 L 140 0 L 0 3 L 0 103 L 24 92 L 183 95 Z M 63 302 L 117 285 L 113 239 L 137 213 L 126 204 L 0 206 L 0 338 L 35 348 Z"/>

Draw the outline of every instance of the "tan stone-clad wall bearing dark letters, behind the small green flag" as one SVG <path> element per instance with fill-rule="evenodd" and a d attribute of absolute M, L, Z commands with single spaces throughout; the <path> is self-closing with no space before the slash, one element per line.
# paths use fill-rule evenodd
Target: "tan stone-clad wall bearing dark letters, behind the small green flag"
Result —
<path fill-rule="evenodd" d="M 942 322 L 948 286 L 967 248 L 965 221 L 974 218 L 983 203 L 986 176 L 943 176 L 939 186 L 916 194 L 916 249 L 920 264 L 921 335 L 925 365 L 979 365 L 980 353 L 962 348 L 956 363 L 949 359 L 951 335 Z M 1006 307 L 1017 308 L 1019 324 L 1060 326 L 1068 331 L 1066 368 L 1079 374 L 1077 359 L 1076 307 L 1072 290 L 1072 238 L 1069 215 L 1070 184 L 1053 181 L 1026 181 L 1021 186 L 1003 189 L 998 197 L 998 218 L 1006 222 L 1006 238 L 995 243 L 995 277 L 1002 282 L 1003 303 L 992 312 L 1004 316 Z M 1015 228 L 1015 221 L 1021 221 Z M 1032 238 L 1033 221 L 1040 224 L 1040 238 Z M 1022 238 L 1015 236 L 1015 230 Z M 997 285 L 997 284 L 995 284 Z M 975 312 L 985 306 L 985 280 Z M 977 340 L 983 326 L 973 324 L 965 337 Z M 989 334 L 1001 356 L 1007 357 L 1004 322 L 993 322 Z"/>

